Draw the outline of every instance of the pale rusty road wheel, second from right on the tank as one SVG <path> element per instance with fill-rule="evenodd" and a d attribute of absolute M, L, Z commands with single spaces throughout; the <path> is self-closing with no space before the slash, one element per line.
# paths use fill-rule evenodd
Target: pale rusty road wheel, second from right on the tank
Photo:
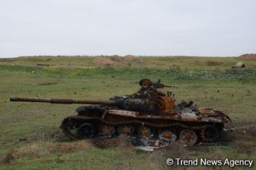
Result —
<path fill-rule="evenodd" d="M 197 142 L 197 134 L 193 130 L 186 129 L 180 133 L 180 143 L 193 146 Z"/>

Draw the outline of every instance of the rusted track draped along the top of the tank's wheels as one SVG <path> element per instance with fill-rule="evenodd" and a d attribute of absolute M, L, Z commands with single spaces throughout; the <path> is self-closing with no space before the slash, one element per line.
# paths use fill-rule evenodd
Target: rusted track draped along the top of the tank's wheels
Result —
<path fill-rule="evenodd" d="M 69 137 L 72 140 L 79 140 L 79 137 L 77 137 L 76 135 L 74 135 L 73 133 L 71 133 L 71 131 L 68 129 L 68 127 L 65 125 L 64 122 L 66 122 L 66 120 L 76 120 L 76 121 L 81 121 L 81 122 L 85 122 L 86 120 L 96 120 L 98 122 L 102 122 L 104 124 L 111 124 L 111 125 L 119 125 L 119 124 L 143 124 L 146 126 L 152 126 L 152 127 L 158 127 L 158 128 L 166 128 L 166 127 L 171 127 L 171 126 L 179 126 L 182 129 L 191 129 L 191 130 L 199 130 L 201 131 L 200 133 L 200 137 L 201 139 L 203 139 L 203 141 L 208 142 L 207 137 L 205 136 L 205 128 L 207 126 L 209 126 L 209 124 L 202 124 L 202 125 L 197 125 L 197 126 L 189 126 L 186 125 L 182 122 L 166 122 L 166 123 L 152 123 L 152 122 L 148 122 L 145 120 L 106 120 L 106 119 L 102 119 L 101 116 L 68 116 L 66 118 L 63 119 L 63 121 L 61 122 L 61 126 L 60 128 L 62 129 L 63 133 Z"/>

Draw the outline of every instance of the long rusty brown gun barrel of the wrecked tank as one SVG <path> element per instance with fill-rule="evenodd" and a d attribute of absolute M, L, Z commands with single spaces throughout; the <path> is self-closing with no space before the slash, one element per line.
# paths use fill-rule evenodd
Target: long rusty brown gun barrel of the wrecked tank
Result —
<path fill-rule="evenodd" d="M 23 102 L 40 102 L 40 103 L 59 103 L 59 104 L 94 104 L 94 105 L 117 105 L 117 101 L 98 101 L 98 100 L 83 100 L 70 98 L 38 98 L 38 97 L 10 97 L 10 101 Z"/>

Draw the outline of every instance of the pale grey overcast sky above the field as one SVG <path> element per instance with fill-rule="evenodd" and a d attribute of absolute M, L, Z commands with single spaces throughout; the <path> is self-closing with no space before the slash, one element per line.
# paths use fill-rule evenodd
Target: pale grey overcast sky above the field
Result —
<path fill-rule="evenodd" d="M 0 57 L 246 53 L 255 0 L 0 0 Z"/>

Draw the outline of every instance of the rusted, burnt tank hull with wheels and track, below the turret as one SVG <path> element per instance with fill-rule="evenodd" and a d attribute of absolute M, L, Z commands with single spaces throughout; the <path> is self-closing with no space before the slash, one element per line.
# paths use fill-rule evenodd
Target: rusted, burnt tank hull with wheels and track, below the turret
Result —
<path fill-rule="evenodd" d="M 102 108 L 101 108 L 102 107 Z M 208 118 L 199 112 L 132 112 L 89 105 L 68 116 L 61 129 L 70 139 L 113 137 L 115 135 L 177 136 L 184 144 L 197 141 L 213 142 L 228 121 L 227 116 L 212 111 Z M 89 111 L 89 112 L 88 112 Z M 94 112 L 91 114 L 91 112 Z M 88 135 L 89 134 L 89 135 Z"/>

